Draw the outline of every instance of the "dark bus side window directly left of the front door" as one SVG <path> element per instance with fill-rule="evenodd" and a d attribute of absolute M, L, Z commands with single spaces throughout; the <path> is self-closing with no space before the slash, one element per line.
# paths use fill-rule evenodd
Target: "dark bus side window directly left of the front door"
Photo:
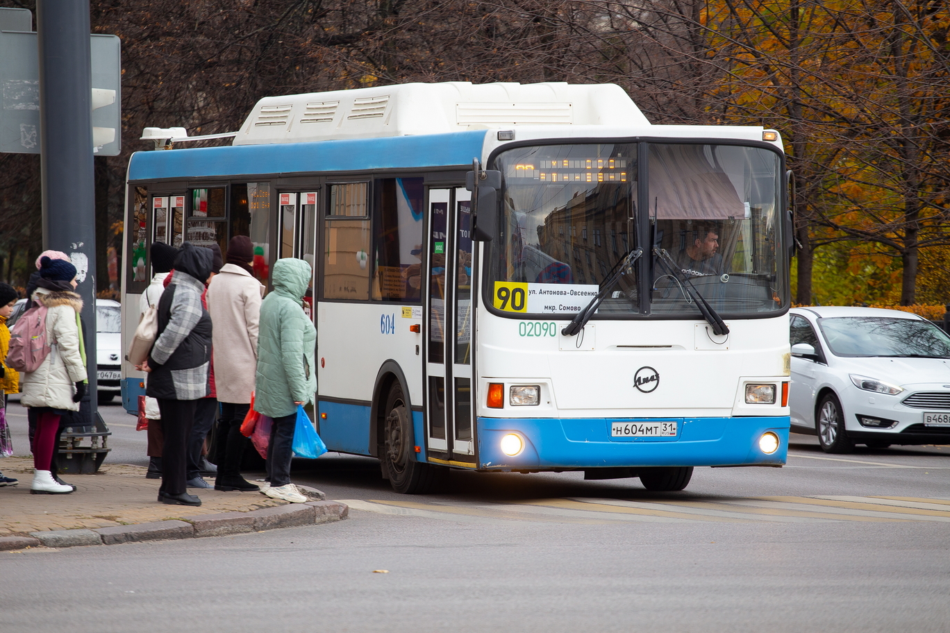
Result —
<path fill-rule="evenodd" d="M 379 204 L 374 225 L 372 298 L 419 301 L 424 178 L 383 178 L 376 182 Z"/>

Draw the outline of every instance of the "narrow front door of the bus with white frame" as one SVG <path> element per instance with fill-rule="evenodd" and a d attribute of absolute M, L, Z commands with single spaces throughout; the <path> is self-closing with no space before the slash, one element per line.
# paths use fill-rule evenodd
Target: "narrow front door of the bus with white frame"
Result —
<path fill-rule="evenodd" d="M 475 465 L 471 194 L 428 191 L 426 419 L 430 461 Z"/>

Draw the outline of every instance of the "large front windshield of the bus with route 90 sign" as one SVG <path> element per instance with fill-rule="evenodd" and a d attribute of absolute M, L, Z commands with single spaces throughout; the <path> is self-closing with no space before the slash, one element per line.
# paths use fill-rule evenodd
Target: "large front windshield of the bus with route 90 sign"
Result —
<path fill-rule="evenodd" d="M 646 147 L 643 157 L 636 143 L 540 145 L 499 155 L 501 239 L 488 271 L 495 307 L 577 313 L 638 248 L 637 270 L 649 267 L 651 288 L 641 292 L 638 274 L 621 275 L 598 314 L 699 317 L 689 282 L 723 316 L 788 305 L 779 156 L 741 145 Z M 646 160 L 646 183 L 637 182 L 638 160 Z M 638 209 L 644 200 L 649 205 Z M 640 214 L 648 214 L 649 234 L 637 232 Z M 517 286 L 526 301 L 512 307 L 506 298 Z"/>

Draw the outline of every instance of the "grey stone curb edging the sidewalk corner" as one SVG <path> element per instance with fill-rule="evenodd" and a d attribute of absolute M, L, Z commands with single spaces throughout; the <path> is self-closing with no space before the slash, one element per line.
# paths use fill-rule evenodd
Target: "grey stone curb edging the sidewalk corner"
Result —
<path fill-rule="evenodd" d="M 312 489 L 313 490 L 313 489 Z M 319 492 L 319 491 L 315 491 Z M 322 493 L 321 493 L 322 494 Z M 249 531 L 276 530 L 340 521 L 350 508 L 338 501 L 308 501 L 251 512 L 223 512 L 96 530 L 34 531 L 29 536 L 0 537 L 0 550 L 44 546 L 74 548 L 89 545 L 119 545 L 138 541 L 165 541 L 200 536 L 223 536 Z"/>

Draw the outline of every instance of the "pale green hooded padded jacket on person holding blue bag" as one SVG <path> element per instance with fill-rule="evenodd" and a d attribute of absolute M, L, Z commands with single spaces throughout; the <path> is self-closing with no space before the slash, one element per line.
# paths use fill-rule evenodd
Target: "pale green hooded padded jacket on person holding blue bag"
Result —
<path fill-rule="evenodd" d="M 254 409 L 271 418 L 290 416 L 295 401 L 306 403 L 316 394 L 316 328 L 302 305 L 310 279 L 304 260 L 278 259 L 274 290 L 260 305 Z"/>

